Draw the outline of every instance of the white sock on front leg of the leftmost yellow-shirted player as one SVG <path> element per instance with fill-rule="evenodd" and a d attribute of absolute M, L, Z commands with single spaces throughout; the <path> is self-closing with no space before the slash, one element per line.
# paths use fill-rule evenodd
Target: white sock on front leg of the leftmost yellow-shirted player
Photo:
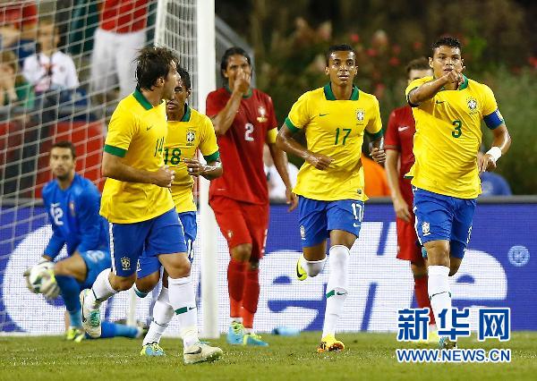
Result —
<path fill-rule="evenodd" d="M 194 285 L 190 276 L 173 279 L 168 277 L 169 300 L 175 315 L 179 319 L 180 334 L 183 337 L 184 348 L 198 343 L 198 309 Z"/>

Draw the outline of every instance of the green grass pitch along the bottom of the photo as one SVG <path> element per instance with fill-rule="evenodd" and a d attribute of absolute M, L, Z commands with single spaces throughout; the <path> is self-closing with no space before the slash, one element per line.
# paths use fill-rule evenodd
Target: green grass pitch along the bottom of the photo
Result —
<path fill-rule="evenodd" d="M 67 343 L 62 337 L 0 336 L 0 380 L 479 380 L 537 379 L 537 333 L 513 333 L 511 341 L 460 348 L 510 348 L 511 363 L 399 364 L 395 334 L 338 334 L 345 351 L 318 354 L 320 333 L 297 337 L 264 335 L 268 348 L 230 346 L 225 336 L 212 341 L 225 351 L 214 363 L 185 366 L 182 343 L 163 339 L 165 358 L 139 355 L 141 341 L 123 338 Z M 427 348 L 428 346 L 420 346 Z M 429 346 L 434 347 L 434 346 Z"/>

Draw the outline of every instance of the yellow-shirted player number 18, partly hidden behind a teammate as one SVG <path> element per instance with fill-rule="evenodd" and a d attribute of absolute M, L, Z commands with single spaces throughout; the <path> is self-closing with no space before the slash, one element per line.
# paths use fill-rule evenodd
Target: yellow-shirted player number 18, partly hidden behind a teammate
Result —
<path fill-rule="evenodd" d="M 183 224 L 187 253 L 192 262 L 193 242 L 196 239 L 196 204 L 192 188 L 192 176 L 203 176 L 208 180 L 222 175 L 222 165 L 218 159 L 217 136 L 208 116 L 198 113 L 186 103 L 192 93 L 189 73 L 182 67 L 177 69 L 181 80 L 175 88 L 175 97 L 166 104 L 168 134 L 164 143 L 164 162 L 175 171 L 172 182 L 172 198 L 175 211 Z M 207 161 L 201 164 L 197 159 L 198 149 Z M 146 255 L 140 259 L 134 291 L 144 298 L 160 280 L 160 262 L 158 258 Z M 153 308 L 153 321 L 142 343 L 141 354 L 145 356 L 163 356 L 160 338 L 166 331 L 174 309 L 169 301 L 166 270 L 162 276 L 162 288 Z"/>

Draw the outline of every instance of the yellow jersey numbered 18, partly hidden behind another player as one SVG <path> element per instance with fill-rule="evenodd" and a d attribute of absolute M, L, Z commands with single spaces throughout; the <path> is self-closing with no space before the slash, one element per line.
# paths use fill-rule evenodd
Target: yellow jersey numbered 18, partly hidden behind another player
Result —
<path fill-rule="evenodd" d="M 168 122 L 168 135 L 164 144 L 164 161 L 175 171 L 172 197 L 177 213 L 196 210 L 192 194 L 194 180 L 188 174 L 183 157 L 195 158 L 198 148 L 207 162 L 219 157 L 217 136 L 209 116 L 198 113 L 188 105 L 184 105 L 184 108 L 181 121 Z"/>

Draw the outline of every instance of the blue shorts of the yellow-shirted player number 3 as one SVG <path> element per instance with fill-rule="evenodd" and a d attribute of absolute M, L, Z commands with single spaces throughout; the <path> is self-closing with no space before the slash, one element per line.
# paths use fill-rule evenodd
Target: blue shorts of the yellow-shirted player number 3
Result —
<path fill-rule="evenodd" d="M 457 199 L 416 187 L 413 195 L 415 229 L 420 243 L 449 241 L 450 255 L 464 258 L 472 233 L 475 199 Z"/>

